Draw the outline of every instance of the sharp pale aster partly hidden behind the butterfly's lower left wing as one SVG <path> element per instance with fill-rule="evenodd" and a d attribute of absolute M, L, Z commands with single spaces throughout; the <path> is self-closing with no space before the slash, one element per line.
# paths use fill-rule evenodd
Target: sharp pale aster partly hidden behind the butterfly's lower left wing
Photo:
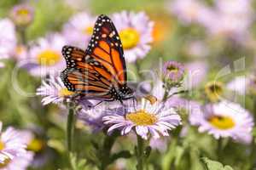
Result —
<path fill-rule="evenodd" d="M 42 99 L 43 105 L 48 105 L 49 103 L 61 104 L 66 99 L 70 99 L 73 94 L 73 92 L 67 90 L 61 81 L 61 77 L 50 76 L 37 89 L 37 95 L 44 96 Z"/>

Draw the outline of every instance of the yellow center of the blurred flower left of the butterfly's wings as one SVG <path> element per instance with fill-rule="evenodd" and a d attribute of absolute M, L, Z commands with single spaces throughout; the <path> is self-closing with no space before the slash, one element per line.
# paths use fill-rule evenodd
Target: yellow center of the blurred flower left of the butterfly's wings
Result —
<path fill-rule="evenodd" d="M 55 65 L 61 60 L 61 54 L 55 50 L 46 49 L 38 54 L 38 63 L 40 65 Z"/>

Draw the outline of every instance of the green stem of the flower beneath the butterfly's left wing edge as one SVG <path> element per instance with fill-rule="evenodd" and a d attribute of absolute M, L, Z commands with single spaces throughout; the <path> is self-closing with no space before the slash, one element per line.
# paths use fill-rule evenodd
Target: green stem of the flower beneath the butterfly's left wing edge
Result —
<path fill-rule="evenodd" d="M 67 150 L 72 151 L 72 140 L 73 140 L 73 124 L 74 124 L 74 111 L 70 108 L 67 116 Z"/>

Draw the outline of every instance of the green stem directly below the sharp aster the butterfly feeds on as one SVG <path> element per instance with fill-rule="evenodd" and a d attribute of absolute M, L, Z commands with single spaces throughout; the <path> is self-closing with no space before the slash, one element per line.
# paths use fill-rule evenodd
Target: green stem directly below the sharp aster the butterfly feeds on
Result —
<path fill-rule="evenodd" d="M 137 135 L 137 170 L 143 170 L 144 168 L 144 141 L 140 135 Z"/>

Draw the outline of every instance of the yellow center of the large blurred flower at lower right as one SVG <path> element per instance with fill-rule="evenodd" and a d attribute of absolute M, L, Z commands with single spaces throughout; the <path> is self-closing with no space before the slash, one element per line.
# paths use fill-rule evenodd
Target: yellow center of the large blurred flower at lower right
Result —
<path fill-rule="evenodd" d="M 222 130 L 230 129 L 235 126 L 235 122 L 230 116 L 212 116 L 209 122 L 214 126 Z"/>

